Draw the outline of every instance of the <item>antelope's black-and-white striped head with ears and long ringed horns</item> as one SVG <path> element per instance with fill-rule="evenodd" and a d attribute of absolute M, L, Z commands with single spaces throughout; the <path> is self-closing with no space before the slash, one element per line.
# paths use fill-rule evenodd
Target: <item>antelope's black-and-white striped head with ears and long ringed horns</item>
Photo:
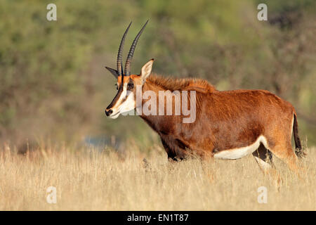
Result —
<path fill-rule="evenodd" d="M 140 34 L 142 34 L 147 23 L 148 20 L 140 32 L 138 32 L 133 44 L 131 45 L 131 49 L 129 49 L 129 55 L 127 56 L 125 63 L 125 70 L 123 71 L 121 55 L 123 51 L 124 40 L 127 32 L 129 31 L 131 23 L 124 32 L 124 35 L 121 39 L 121 44 L 119 44 L 119 53 L 117 54 L 117 70 L 105 67 L 112 73 L 112 75 L 114 75 L 115 78 L 117 78 L 117 84 L 115 84 L 117 86 L 117 95 L 113 98 L 110 105 L 105 109 L 105 115 L 112 119 L 116 119 L 121 113 L 126 113 L 136 108 L 136 86 L 142 86 L 145 82 L 145 79 L 152 72 L 152 63 L 154 63 L 154 59 L 143 65 L 140 75 L 131 75 L 131 60 L 133 58 L 133 53 Z"/>

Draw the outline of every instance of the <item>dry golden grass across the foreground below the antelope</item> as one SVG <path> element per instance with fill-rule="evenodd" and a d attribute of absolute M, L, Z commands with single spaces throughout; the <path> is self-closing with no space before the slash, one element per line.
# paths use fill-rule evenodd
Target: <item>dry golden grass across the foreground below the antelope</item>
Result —
<path fill-rule="evenodd" d="M 17 155 L 0 148 L 0 210 L 315 210 L 316 148 L 302 160 L 303 180 L 275 160 L 282 176 L 263 176 L 249 157 L 235 161 L 170 163 L 162 148 L 150 155 L 127 150 L 42 149 Z M 143 158 L 150 162 L 144 167 Z M 57 188 L 57 203 L 46 188 Z M 268 188 L 268 203 L 257 201 Z"/>

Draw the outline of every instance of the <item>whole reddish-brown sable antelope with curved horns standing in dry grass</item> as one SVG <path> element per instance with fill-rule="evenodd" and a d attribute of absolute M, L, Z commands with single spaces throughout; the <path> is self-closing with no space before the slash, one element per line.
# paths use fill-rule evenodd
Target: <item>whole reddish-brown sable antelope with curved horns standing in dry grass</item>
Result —
<path fill-rule="evenodd" d="M 297 116 L 291 103 L 265 90 L 218 91 L 203 79 L 150 75 L 153 59 L 143 65 L 140 75 L 131 75 L 133 53 L 147 22 L 131 45 L 125 70 L 122 49 L 131 23 L 119 45 L 117 70 L 106 67 L 117 78 L 118 92 L 105 114 L 117 118 L 121 113 L 136 109 L 136 86 L 143 92 L 156 94 L 166 90 L 195 91 L 195 122 L 183 123 L 183 115 L 140 115 L 159 134 L 170 160 L 182 160 L 192 152 L 202 158 L 209 156 L 224 160 L 235 160 L 252 153 L 259 167 L 266 171 L 272 168 L 273 153 L 296 171 L 296 155 L 302 155 L 302 147 Z M 145 103 L 143 99 L 141 105 Z M 291 147 L 292 131 L 296 154 Z"/>

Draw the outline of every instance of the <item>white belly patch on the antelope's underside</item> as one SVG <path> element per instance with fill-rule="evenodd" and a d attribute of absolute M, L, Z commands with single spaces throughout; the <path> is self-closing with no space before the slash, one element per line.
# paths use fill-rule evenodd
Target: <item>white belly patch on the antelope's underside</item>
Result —
<path fill-rule="evenodd" d="M 214 158 L 221 160 L 236 160 L 251 153 L 254 153 L 254 151 L 259 148 L 260 143 L 263 143 L 263 146 L 265 146 L 265 148 L 268 148 L 267 139 L 265 139 L 265 137 L 261 135 L 250 146 L 221 150 L 220 152 L 214 154 Z"/>

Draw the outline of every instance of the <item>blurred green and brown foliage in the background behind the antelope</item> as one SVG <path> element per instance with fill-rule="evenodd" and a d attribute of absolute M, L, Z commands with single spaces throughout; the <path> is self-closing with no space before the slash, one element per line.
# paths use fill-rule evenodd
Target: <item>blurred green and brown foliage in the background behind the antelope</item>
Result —
<path fill-rule="evenodd" d="M 218 89 L 268 89 L 298 111 L 302 139 L 316 143 L 315 1 L 0 0 L 0 139 L 83 136 L 157 139 L 138 117 L 105 118 L 124 53 L 147 19 L 132 72 L 155 58 L 153 72 L 202 77 Z M 257 5 L 268 5 L 268 21 Z"/>

